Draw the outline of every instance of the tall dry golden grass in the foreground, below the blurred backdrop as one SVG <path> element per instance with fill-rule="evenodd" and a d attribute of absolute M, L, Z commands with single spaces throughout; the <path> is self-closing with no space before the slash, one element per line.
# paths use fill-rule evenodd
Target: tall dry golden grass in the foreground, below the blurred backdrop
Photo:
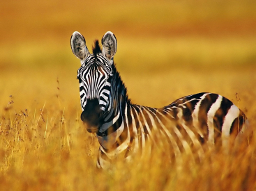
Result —
<path fill-rule="evenodd" d="M 1 113 L 1 190 L 255 190 L 255 134 L 232 153 L 209 151 L 202 163 L 184 154 L 173 165 L 164 145 L 103 172 L 96 169 L 98 141 L 78 114 L 67 118 L 46 104 L 16 112 L 9 99 Z"/>

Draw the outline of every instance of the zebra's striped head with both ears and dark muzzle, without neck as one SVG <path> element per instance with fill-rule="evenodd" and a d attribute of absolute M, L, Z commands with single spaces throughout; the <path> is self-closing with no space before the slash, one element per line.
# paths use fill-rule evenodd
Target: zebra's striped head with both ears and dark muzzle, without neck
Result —
<path fill-rule="evenodd" d="M 81 119 L 89 132 L 98 131 L 112 105 L 112 65 L 117 42 L 114 34 L 109 31 L 105 33 L 101 43 L 103 50 L 96 40 L 93 53 L 89 53 L 80 33 L 74 32 L 70 40 L 73 53 L 81 61 L 81 67 L 77 71 L 83 110 Z"/>

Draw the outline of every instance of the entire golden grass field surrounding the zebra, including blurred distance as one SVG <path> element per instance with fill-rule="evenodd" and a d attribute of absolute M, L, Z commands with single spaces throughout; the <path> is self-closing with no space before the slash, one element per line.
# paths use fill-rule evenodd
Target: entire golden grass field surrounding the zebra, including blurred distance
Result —
<path fill-rule="evenodd" d="M 98 140 L 80 121 L 80 61 L 107 31 L 133 103 L 161 107 L 221 94 L 256 127 L 256 1 L 1 1 L 0 190 L 256 190 L 256 144 L 178 169 L 165 148 L 98 172 Z M 255 134 L 253 135 L 255 137 Z"/>

